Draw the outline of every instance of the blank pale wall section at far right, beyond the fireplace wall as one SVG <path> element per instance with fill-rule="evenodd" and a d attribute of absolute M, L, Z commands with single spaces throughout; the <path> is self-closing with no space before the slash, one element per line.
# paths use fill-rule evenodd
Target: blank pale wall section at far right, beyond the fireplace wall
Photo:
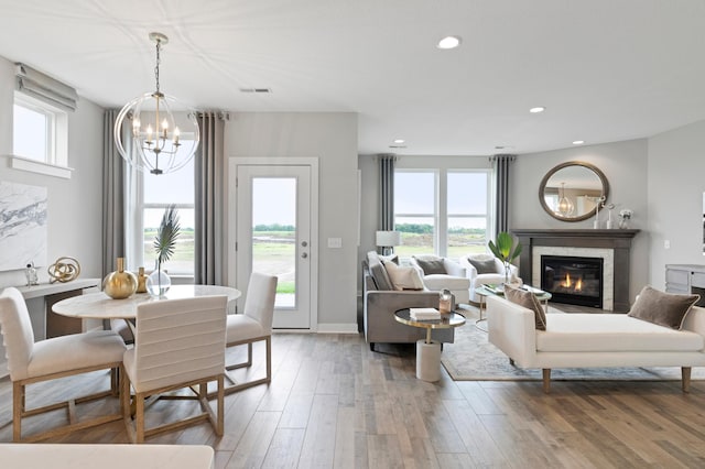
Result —
<path fill-rule="evenodd" d="M 650 279 L 665 286 L 665 264 L 705 264 L 703 192 L 705 121 L 649 139 Z M 664 241 L 671 248 L 664 248 Z"/>

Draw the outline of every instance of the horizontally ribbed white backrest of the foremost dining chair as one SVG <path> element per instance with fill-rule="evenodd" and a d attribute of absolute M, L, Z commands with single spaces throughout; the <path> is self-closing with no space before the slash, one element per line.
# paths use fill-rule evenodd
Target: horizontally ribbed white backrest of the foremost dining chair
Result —
<path fill-rule="evenodd" d="M 149 391 L 223 373 L 227 296 L 138 306 L 133 385 Z"/>

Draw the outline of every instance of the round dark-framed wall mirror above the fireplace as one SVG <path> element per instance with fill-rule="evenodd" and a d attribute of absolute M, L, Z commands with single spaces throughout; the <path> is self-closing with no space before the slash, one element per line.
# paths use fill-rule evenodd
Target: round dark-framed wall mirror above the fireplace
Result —
<path fill-rule="evenodd" d="M 581 221 L 595 215 L 608 193 L 607 177 L 601 171 L 589 163 L 572 161 L 549 171 L 541 181 L 539 200 L 553 218 Z"/>

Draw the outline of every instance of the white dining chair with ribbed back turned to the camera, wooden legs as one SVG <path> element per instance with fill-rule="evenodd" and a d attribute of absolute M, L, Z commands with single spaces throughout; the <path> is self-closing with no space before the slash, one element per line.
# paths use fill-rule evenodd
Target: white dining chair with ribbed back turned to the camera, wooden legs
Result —
<path fill-rule="evenodd" d="M 216 435 L 224 428 L 225 327 L 227 296 L 160 299 L 138 305 L 134 347 L 124 352 L 122 410 L 132 443 L 209 421 Z M 217 382 L 217 413 L 208 402 L 208 383 Z M 176 422 L 145 427 L 145 400 L 198 385 L 195 394 L 180 395 L 200 404 L 202 413 Z M 131 415 L 130 388 L 134 391 Z M 191 391 L 189 391 L 191 392 Z"/>

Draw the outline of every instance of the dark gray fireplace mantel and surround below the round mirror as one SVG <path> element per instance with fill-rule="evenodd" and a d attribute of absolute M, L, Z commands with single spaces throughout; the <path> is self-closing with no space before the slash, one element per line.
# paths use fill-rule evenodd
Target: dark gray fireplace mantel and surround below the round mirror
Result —
<path fill-rule="evenodd" d="M 640 230 L 596 230 L 596 229 L 514 229 L 521 242 L 519 276 L 528 283 L 532 279 L 533 248 L 604 248 L 615 253 L 614 310 L 629 310 L 629 265 L 631 240 Z"/>

